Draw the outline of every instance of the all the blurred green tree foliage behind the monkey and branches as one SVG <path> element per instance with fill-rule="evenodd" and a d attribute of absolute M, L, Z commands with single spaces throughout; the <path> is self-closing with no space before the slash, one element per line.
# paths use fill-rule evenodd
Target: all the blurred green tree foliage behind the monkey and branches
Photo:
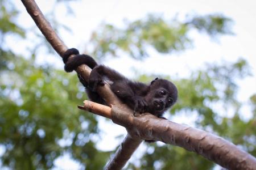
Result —
<path fill-rule="evenodd" d="M 0 146 L 3 150 L 0 156 L 3 166 L 48 169 L 54 167 L 56 158 L 69 153 L 86 169 L 102 169 L 110 152 L 96 147 L 100 141 L 96 118 L 76 108 L 86 99 L 77 77 L 53 65 L 36 63 L 36 48 L 47 45 L 40 36 L 30 57 L 17 56 L 11 46 L 6 46 L 6 37 L 19 36 L 26 40 L 28 34 L 15 23 L 18 16 L 15 6 L 5 0 L 0 0 L 0 4 Z M 92 34 L 90 53 L 100 59 L 122 53 L 143 59 L 150 56 L 148 48 L 159 53 L 179 52 L 192 46 L 190 31 L 216 37 L 232 33 L 230 23 L 231 20 L 222 15 L 192 15 L 170 22 L 151 14 L 126 22 L 125 28 L 102 24 Z M 255 156 L 255 95 L 251 97 L 254 116 L 248 120 L 241 118 L 243 103 L 236 96 L 237 79 L 248 75 L 250 68 L 240 59 L 235 63 L 207 65 L 204 70 L 191 73 L 189 78 L 176 78 L 179 103 L 172 109 L 171 117 L 196 117 L 196 127 L 221 135 Z M 148 82 L 151 76 L 137 75 L 137 79 Z M 232 116 L 222 114 L 216 105 L 232 109 Z M 139 164 L 131 162 L 127 168 L 191 169 L 191 166 L 212 169 L 215 165 L 183 148 L 154 143 Z"/>

